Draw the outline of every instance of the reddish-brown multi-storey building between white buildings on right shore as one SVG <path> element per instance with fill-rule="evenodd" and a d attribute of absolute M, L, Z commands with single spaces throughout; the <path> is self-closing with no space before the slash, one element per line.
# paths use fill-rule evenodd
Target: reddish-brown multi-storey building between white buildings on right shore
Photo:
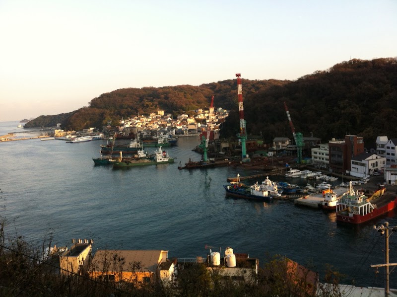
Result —
<path fill-rule="evenodd" d="M 356 135 L 345 135 L 343 141 L 332 139 L 329 148 L 330 171 L 348 173 L 351 158 L 364 152 L 364 140 Z"/>

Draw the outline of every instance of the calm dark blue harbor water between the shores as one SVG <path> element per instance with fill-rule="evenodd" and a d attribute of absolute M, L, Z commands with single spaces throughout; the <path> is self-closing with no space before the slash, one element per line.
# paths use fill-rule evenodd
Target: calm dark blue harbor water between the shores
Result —
<path fill-rule="evenodd" d="M 19 132 L 17 125 L 0 122 L 0 135 Z M 178 146 L 165 148 L 176 158 L 174 164 L 121 170 L 94 165 L 92 157 L 99 156 L 104 143 L 0 143 L 0 215 L 8 220 L 8 235 L 22 235 L 39 245 L 53 232 L 57 246 L 70 246 L 72 238 L 92 238 L 94 251 L 163 249 L 169 257 L 205 256 L 205 245 L 222 251 L 231 246 L 259 258 L 261 266 L 279 254 L 320 275 L 330 264 L 346 275 L 345 284 L 384 286 L 383 268 L 378 274 L 370 268 L 385 261 L 385 238 L 373 225 L 397 225 L 394 212 L 346 226 L 336 223 L 334 213 L 296 207 L 293 201 L 266 204 L 227 198 L 227 177 L 259 172 L 232 166 L 178 170 L 179 162 L 200 159 L 192 151 L 199 137 L 179 138 Z M 397 262 L 397 233 L 390 235 L 390 262 Z M 395 272 L 390 284 L 397 287 Z"/>

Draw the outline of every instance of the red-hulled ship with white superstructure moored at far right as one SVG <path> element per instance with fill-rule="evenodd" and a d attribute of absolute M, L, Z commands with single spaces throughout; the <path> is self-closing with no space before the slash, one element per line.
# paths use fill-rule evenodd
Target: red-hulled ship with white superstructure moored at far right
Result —
<path fill-rule="evenodd" d="M 397 207 L 397 196 L 385 194 L 385 188 L 374 193 L 370 198 L 363 192 L 354 191 L 349 185 L 349 193 L 336 204 L 336 221 L 359 224 L 375 219 Z"/>

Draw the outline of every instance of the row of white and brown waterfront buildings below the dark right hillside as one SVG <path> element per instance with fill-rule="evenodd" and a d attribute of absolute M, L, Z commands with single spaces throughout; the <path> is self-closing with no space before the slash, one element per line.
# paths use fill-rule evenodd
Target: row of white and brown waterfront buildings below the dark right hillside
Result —
<path fill-rule="evenodd" d="M 319 168 L 358 178 L 383 175 L 388 184 L 397 181 L 397 139 L 378 136 L 376 148 L 364 147 L 362 137 L 345 135 L 344 139 L 332 139 L 321 144 L 318 138 L 304 138 L 305 145 L 311 147 L 311 162 Z M 275 138 L 273 148 L 293 149 L 288 138 Z M 295 148 L 296 149 L 296 148 Z"/>

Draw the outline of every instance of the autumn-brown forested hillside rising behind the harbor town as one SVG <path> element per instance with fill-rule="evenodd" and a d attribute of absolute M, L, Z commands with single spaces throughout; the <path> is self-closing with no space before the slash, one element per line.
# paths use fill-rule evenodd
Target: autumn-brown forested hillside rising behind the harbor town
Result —
<path fill-rule="evenodd" d="M 284 101 L 296 132 L 304 136 L 313 133 L 328 141 L 350 133 L 363 136 L 365 142 L 374 142 L 378 135 L 396 137 L 396 58 L 353 59 L 296 81 L 243 79 L 242 85 L 247 131 L 255 135 L 262 132 L 265 142 L 275 136 L 292 138 Z M 234 135 L 239 131 L 236 79 L 200 86 L 119 89 L 94 98 L 88 107 L 69 114 L 42 116 L 25 127 L 62 123 L 66 129 L 100 128 L 109 120 L 114 125 L 123 117 L 157 109 L 177 115 L 208 107 L 212 95 L 215 107 L 235 111 L 221 132 L 224 137 Z"/>

